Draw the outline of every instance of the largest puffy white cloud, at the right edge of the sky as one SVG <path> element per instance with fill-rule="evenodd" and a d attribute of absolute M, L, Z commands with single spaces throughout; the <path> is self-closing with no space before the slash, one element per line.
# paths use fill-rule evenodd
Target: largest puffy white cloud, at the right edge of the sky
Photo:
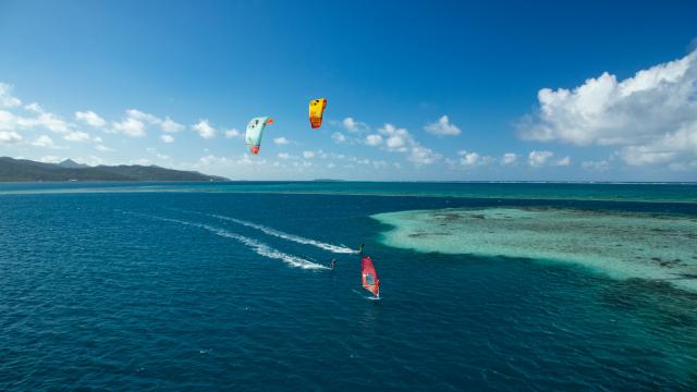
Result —
<path fill-rule="evenodd" d="M 628 164 L 697 158 L 697 51 L 617 81 L 608 72 L 573 89 L 543 88 L 521 136 L 578 146 L 617 146 Z"/>

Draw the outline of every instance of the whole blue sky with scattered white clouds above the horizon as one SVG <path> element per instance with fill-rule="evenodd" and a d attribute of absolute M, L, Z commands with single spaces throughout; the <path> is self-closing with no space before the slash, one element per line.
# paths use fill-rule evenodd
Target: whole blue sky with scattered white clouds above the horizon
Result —
<path fill-rule="evenodd" d="M 232 180 L 697 181 L 695 15 L 695 1 L 0 0 L 0 156 Z M 274 123 L 253 156 L 261 115 Z"/>

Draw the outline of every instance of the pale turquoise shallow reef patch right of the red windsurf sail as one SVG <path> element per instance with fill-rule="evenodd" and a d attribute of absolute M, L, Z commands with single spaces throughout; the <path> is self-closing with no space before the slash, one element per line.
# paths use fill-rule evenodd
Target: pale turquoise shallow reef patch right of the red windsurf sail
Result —
<path fill-rule="evenodd" d="M 420 252 L 575 262 L 616 279 L 697 293 L 697 218 L 574 208 L 447 208 L 378 213 L 383 243 Z"/>

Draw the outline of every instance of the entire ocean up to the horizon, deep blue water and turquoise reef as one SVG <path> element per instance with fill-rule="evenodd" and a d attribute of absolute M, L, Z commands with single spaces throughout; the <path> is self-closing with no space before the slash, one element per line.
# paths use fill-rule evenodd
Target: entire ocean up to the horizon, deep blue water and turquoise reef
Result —
<path fill-rule="evenodd" d="M 696 225 L 696 184 L 0 184 L 0 390 L 694 391 Z"/>

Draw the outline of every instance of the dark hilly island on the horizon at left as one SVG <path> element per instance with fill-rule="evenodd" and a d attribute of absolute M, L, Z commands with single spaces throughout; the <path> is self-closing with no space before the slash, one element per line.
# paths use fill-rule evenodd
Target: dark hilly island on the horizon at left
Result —
<path fill-rule="evenodd" d="M 32 181 L 228 181 L 228 179 L 157 166 L 90 167 L 72 159 L 60 163 L 44 163 L 28 159 L 0 157 L 0 182 Z"/>

